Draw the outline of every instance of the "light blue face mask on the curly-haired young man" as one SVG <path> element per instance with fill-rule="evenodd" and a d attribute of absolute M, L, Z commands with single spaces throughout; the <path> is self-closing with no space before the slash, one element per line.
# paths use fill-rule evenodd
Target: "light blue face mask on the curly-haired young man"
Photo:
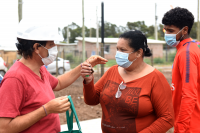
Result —
<path fill-rule="evenodd" d="M 182 31 L 182 29 L 180 31 Z M 172 46 L 172 47 L 176 47 L 180 43 L 180 40 L 182 39 L 182 37 L 184 35 L 180 38 L 179 41 L 176 41 L 176 35 L 177 34 L 165 34 L 165 41 L 166 41 L 167 45 Z"/>

